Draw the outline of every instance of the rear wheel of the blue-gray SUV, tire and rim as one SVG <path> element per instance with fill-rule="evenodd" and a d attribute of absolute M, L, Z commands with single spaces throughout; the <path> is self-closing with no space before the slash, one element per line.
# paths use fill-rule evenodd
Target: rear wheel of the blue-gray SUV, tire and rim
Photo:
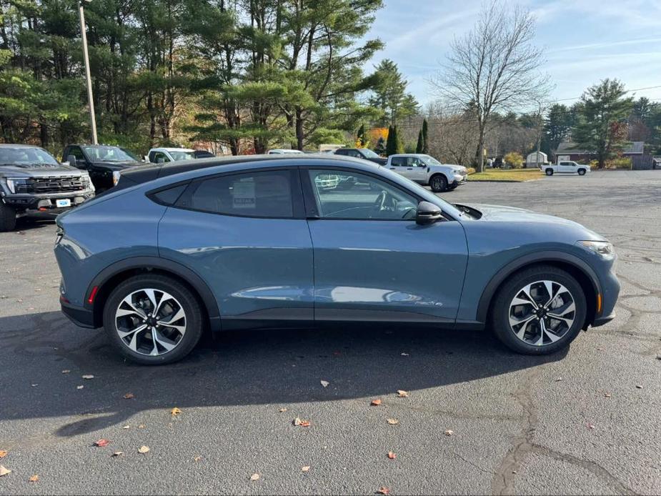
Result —
<path fill-rule="evenodd" d="M 151 292 L 153 299 L 149 296 L 150 290 L 154 290 Z M 161 307 L 159 316 L 146 317 L 151 315 L 154 300 L 157 307 Z M 183 312 L 183 316 L 177 318 L 179 312 Z M 118 313 L 121 314 L 118 316 Z M 126 279 L 111 292 L 104 305 L 103 321 L 110 342 L 126 359 L 143 365 L 159 365 L 177 362 L 192 351 L 202 337 L 202 314 L 197 298 L 181 282 L 167 276 L 139 275 Z M 177 326 L 168 327 L 164 322 Z M 157 329 L 156 342 L 151 327 L 132 331 L 149 325 Z M 154 349 L 156 354 L 151 354 Z"/>

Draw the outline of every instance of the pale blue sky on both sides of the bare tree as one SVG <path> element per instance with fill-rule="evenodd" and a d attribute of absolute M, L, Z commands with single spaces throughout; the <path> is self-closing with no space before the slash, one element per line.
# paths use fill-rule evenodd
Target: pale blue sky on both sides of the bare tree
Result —
<path fill-rule="evenodd" d="M 372 60 L 397 62 L 421 104 L 434 99 L 427 78 L 454 36 L 468 31 L 481 0 L 385 0 L 369 37 L 386 46 Z M 556 85 L 552 99 L 572 99 L 600 79 L 661 101 L 661 0 L 522 0 L 537 17 L 541 71 Z M 572 104 L 574 100 L 562 103 Z"/>

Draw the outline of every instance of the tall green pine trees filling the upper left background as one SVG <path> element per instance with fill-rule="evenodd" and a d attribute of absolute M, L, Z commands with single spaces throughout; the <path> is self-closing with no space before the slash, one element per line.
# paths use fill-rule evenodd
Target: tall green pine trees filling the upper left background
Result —
<path fill-rule="evenodd" d="M 99 141 L 263 153 L 344 142 L 418 104 L 396 64 L 367 61 L 382 0 L 84 2 Z M 89 141 L 78 4 L 0 0 L 0 136 Z"/>

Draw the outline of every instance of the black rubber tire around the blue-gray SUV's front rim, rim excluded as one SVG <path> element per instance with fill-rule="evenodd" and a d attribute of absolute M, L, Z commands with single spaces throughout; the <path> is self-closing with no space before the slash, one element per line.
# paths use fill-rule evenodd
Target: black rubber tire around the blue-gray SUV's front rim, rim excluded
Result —
<path fill-rule="evenodd" d="M 540 280 L 549 280 L 558 282 L 569 289 L 576 310 L 574 314 L 574 323 L 572 327 L 565 333 L 565 335 L 558 339 L 555 343 L 547 344 L 545 346 L 535 346 L 521 341 L 515 336 L 512 329 L 510 329 L 510 302 L 519 292 L 522 287 L 527 284 Z M 567 272 L 552 267 L 540 270 L 529 270 L 515 275 L 510 281 L 500 289 L 494 306 L 492 309 L 492 325 L 493 330 L 498 339 L 505 344 L 505 346 L 518 353 L 523 354 L 551 354 L 565 349 L 577 337 L 583 323 L 585 322 L 585 314 L 587 312 L 587 303 L 585 294 L 580 284 Z"/>

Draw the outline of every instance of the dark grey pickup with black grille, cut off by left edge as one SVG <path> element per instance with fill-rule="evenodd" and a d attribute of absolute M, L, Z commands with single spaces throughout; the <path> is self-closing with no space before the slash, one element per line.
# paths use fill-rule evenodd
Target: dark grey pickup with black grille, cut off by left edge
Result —
<path fill-rule="evenodd" d="M 0 144 L 0 231 L 14 229 L 18 217 L 59 214 L 91 197 L 88 172 L 39 147 Z"/>

